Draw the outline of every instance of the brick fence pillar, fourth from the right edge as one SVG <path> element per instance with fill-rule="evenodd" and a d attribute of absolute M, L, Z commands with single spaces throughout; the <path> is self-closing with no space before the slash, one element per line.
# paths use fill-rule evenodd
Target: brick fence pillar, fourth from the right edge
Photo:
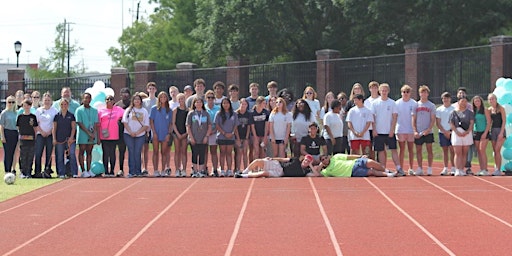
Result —
<path fill-rule="evenodd" d="M 226 61 L 228 66 L 226 74 L 226 87 L 231 84 L 237 84 L 240 88 L 238 90 L 240 97 L 249 96 L 249 68 L 244 67 L 249 65 L 249 59 L 228 56 Z M 261 86 L 262 85 L 260 85 L 260 93 L 263 92 Z"/>

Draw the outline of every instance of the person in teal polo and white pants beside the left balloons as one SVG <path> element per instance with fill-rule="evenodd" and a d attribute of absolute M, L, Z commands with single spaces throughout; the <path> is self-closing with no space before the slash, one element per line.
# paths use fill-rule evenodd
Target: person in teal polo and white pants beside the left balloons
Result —
<path fill-rule="evenodd" d="M 96 144 L 98 137 L 98 110 L 91 107 L 91 94 L 82 95 L 83 105 L 76 109 L 76 123 L 78 132 L 76 142 L 78 144 L 78 164 L 82 170 L 82 177 L 88 178 L 94 176 L 90 171 L 92 162 L 92 148 Z M 84 153 L 87 154 L 87 164 L 84 166 Z"/>

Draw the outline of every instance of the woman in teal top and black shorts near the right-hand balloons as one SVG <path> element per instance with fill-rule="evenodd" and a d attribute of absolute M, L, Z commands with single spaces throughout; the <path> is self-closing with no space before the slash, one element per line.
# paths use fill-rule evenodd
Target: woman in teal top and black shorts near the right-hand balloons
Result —
<path fill-rule="evenodd" d="M 480 171 L 477 175 L 487 176 L 487 142 L 489 141 L 489 129 L 491 128 L 491 113 L 484 106 L 484 100 L 480 96 L 471 99 L 473 104 L 473 113 L 475 114 L 475 124 L 473 125 L 473 143 L 478 152 L 478 162 Z"/>

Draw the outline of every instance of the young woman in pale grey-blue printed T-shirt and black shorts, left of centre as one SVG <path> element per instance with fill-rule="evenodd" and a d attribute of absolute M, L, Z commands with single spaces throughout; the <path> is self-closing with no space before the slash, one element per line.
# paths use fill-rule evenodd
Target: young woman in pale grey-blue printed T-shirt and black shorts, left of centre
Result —
<path fill-rule="evenodd" d="M 187 134 L 192 148 L 192 178 L 206 177 L 208 134 L 212 128 L 210 115 L 204 109 L 204 100 L 196 97 L 187 115 Z"/>

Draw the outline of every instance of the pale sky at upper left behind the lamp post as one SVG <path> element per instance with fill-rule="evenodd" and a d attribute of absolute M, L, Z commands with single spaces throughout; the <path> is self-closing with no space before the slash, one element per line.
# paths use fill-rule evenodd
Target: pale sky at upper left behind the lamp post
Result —
<path fill-rule="evenodd" d="M 123 27 L 135 21 L 139 0 L 17 0 L 0 8 L 0 63 L 16 64 L 14 42 L 20 41 L 20 64 L 38 63 L 54 47 L 56 27 L 71 23 L 70 40 L 83 50 L 70 60 L 81 60 L 88 72 L 110 73 L 110 47 L 119 48 Z M 139 17 L 148 17 L 156 5 L 140 0 Z M 66 39 L 67 41 L 67 39 Z"/>

